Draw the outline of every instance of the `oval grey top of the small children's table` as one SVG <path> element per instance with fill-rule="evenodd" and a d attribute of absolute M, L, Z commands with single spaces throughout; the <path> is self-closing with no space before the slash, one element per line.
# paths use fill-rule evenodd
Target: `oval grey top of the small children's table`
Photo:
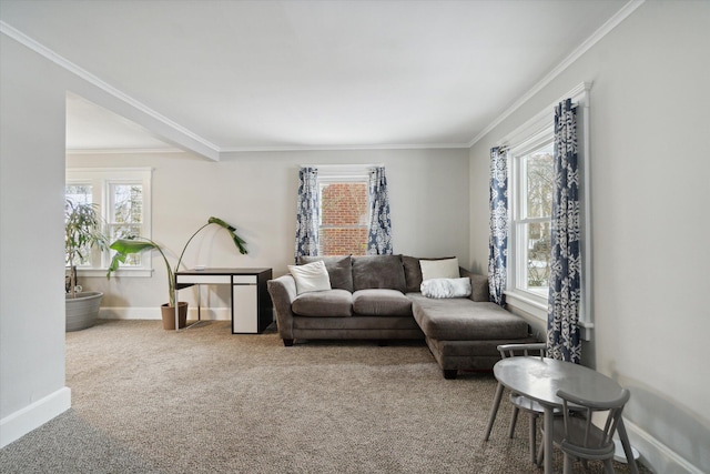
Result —
<path fill-rule="evenodd" d="M 496 379 L 516 393 L 540 403 L 561 406 L 557 391 L 580 395 L 595 402 L 615 400 L 621 386 L 584 365 L 539 357 L 508 357 L 493 367 Z"/>

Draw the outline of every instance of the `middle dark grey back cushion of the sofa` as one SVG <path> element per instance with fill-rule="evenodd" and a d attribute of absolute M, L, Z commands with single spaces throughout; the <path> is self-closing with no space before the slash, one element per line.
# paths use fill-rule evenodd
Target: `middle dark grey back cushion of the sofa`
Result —
<path fill-rule="evenodd" d="M 407 290 L 402 255 L 353 256 L 353 289 L 358 291 L 381 288 L 402 293 Z"/>

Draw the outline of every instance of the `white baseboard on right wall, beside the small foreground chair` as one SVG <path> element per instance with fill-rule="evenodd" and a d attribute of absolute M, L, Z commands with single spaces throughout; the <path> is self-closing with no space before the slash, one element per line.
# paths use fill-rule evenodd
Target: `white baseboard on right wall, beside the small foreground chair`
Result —
<path fill-rule="evenodd" d="M 641 461 L 655 473 L 703 474 L 706 472 L 626 417 L 623 425 L 629 434 L 631 445 L 639 451 Z"/>

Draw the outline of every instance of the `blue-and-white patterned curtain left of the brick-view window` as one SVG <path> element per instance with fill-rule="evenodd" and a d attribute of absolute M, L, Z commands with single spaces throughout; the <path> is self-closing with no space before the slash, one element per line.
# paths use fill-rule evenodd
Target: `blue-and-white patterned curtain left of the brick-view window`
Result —
<path fill-rule="evenodd" d="M 298 263 L 301 255 L 318 254 L 318 223 L 321 211 L 318 191 L 318 170 L 301 168 L 298 170 L 298 210 L 296 213 L 296 252 Z"/>

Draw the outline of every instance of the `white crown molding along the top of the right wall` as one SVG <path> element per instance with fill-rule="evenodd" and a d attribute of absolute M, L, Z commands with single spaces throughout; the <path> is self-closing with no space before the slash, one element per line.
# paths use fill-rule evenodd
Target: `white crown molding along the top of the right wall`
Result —
<path fill-rule="evenodd" d="M 619 23 L 626 20 L 631 13 L 636 11 L 646 0 L 631 0 L 625 4 L 613 17 L 607 20 L 597 31 L 595 31 L 589 38 L 587 38 L 577 49 L 575 49 L 567 58 L 562 60 L 555 69 L 547 73 L 537 84 L 532 87 L 523 97 L 516 100 L 513 105 L 506 109 L 496 120 L 490 122 L 480 133 L 468 142 L 468 148 L 476 144 L 480 139 L 486 137 L 493 129 L 498 127 L 504 120 L 510 117 L 516 110 L 523 107 L 535 94 L 540 92 L 546 85 L 548 85 L 555 78 L 561 74 L 567 68 L 569 68 L 575 61 L 577 61 L 584 53 L 589 51 L 591 47 L 597 44 L 604 37 L 606 37 L 611 30 L 613 30 Z"/>

